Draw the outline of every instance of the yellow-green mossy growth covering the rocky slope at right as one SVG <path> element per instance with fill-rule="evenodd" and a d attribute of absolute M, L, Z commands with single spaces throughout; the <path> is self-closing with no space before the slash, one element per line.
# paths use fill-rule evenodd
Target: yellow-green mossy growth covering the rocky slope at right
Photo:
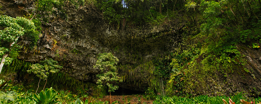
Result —
<path fill-rule="evenodd" d="M 201 56 L 200 56 L 201 57 Z M 238 68 L 244 68 L 246 60 L 240 55 L 236 55 L 232 58 L 227 58 L 225 54 L 222 55 L 206 55 L 202 61 L 194 61 L 187 69 L 185 69 L 185 90 L 187 93 L 191 94 L 201 94 L 202 92 L 194 92 L 194 89 L 208 90 L 212 86 L 217 88 L 222 88 L 223 83 L 216 81 L 215 79 L 220 79 L 223 77 L 233 77 L 230 76 L 232 73 L 240 72 Z M 240 61 L 236 61 L 240 60 Z M 235 71 L 237 70 L 237 71 Z M 247 70 L 249 72 L 249 70 Z M 209 80 L 208 80 L 209 79 Z M 214 81 L 212 81 L 214 79 Z M 212 83 L 212 84 L 209 84 Z M 227 83 L 226 81 L 224 83 Z M 218 95 L 224 94 L 224 92 L 215 93 Z"/>

